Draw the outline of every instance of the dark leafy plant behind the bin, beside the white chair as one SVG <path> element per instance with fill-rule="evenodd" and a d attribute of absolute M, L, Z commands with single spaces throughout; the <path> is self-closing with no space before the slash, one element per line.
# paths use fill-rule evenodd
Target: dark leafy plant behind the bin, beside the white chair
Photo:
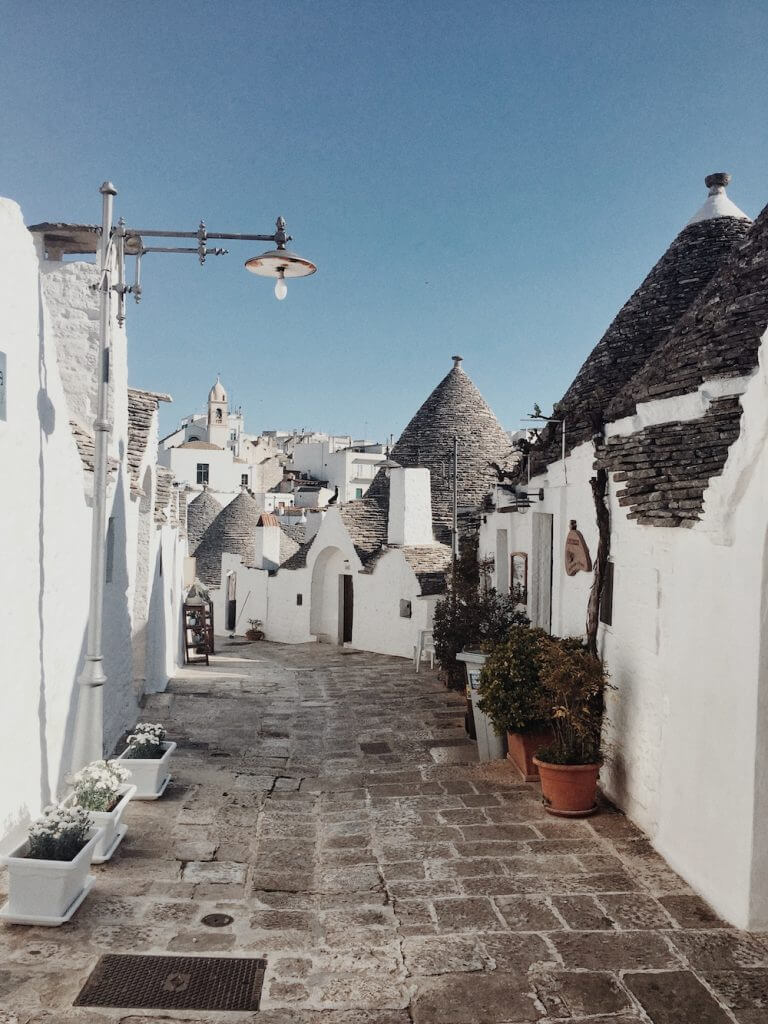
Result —
<path fill-rule="evenodd" d="M 477 560 L 477 539 L 465 543 L 456 572 L 449 574 L 446 595 L 435 607 L 435 658 L 453 689 L 465 686 L 464 665 L 456 660 L 460 651 L 489 650 L 504 639 L 510 626 L 528 622 L 520 607 L 520 594 L 500 594 L 488 587 L 488 562 Z"/>

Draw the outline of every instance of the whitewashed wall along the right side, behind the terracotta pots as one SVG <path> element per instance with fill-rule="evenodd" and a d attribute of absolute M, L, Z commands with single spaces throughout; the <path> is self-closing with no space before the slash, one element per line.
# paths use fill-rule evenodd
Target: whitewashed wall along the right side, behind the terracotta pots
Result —
<path fill-rule="evenodd" d="M 765 343 L 763 353 L 765 352 Z M 763 355 L 764 359 L 764 355 Z M 707 391 L 707 388 L 703 389 Z M 712 393 L 721 393 L 715 384 Z M 693 529 L 638 526 L 609 485 L 611 626 L 599 647 L 616 687 L 607 697 L 609 760 L 601 784 L 670 863 L 728 921 L 768 927 L 768 380 L 742 397 L 741 436 L 706 494 Z M 656 403 L 649 403 L 654 407 Z M 689 418 L 691 399 L 644 408 Z M 699 414 L 700 415 L 700 414 Z M 609 426 L 609 431 L 613 429 Z M 531 554 L 537 511 L 554 515 L 552 632 L 583 635 L 592 573 L 568 578 L 563 551 L 577 519 L 594 558 L 592 446 L 531 480 L 545 499 L 492 513 L 481 553 Z M 534 559 L 529 560 L 532 565 Z M 498 566 L 497 566 L 498 572 Z M 530 591 L 530 581 L 529 581 Z"/>

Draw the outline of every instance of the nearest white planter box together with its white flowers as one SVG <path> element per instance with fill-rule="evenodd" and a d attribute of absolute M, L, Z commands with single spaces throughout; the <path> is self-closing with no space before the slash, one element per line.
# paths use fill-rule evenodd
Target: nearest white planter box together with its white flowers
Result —
<path fill-rule="evenodd" d="M 0 916 L 11 924 L 62 925 L 93 885 L 88 874 L 101 828 L 82 807 L 48 807 L 27 839 L 3 856 L 8 902 Z"/>

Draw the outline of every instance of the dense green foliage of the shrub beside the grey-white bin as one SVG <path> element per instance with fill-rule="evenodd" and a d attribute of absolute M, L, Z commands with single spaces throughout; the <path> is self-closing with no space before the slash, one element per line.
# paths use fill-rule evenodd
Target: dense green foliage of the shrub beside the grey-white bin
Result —
<path fill-rule="evenodd" d="M 498 732 L 525 732 L 547 725 L 539 685 L 544 630 L 511 626 L 505 638 L 488 653 L 480 672 L 480 711 Z"/>

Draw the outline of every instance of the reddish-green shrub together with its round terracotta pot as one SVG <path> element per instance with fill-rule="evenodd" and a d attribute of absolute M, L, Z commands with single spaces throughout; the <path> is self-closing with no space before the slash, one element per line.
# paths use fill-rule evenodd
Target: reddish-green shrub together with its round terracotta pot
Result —
<path fill-rule="evenodd" d="M 553 733 L 534 759 L 545 806 L 564 817 L 592 814 L 602 762 L 605 669 L 581 641 L 543 637 L 539 685 L 542 715 L 549 716 Z"/>

